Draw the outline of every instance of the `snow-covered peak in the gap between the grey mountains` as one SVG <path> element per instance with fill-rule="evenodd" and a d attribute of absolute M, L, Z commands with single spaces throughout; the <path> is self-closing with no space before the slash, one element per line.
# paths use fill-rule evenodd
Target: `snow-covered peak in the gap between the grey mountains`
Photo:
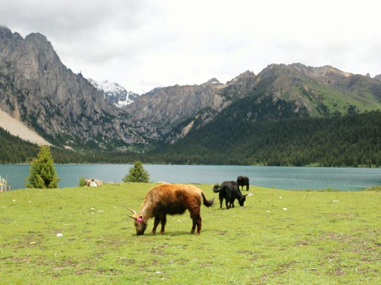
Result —
<path fill-rule="evenodd" d="M 105 93 L 105 99 L 115 106 L 121 108 L 126 105 L 131 104 L 139 94 L 127 91 L 123 86 L 118 83 L 105 81 L 96 81 L 91 78 L 88 79 L 88 82 L 98 90 L 103 90 Z"/>

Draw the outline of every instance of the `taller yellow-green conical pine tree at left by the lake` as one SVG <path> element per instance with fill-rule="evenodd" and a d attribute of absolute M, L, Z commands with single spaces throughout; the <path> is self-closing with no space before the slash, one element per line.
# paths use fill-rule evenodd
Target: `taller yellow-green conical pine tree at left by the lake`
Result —
<path fill-rule="evenodd" d="M 49 146 L 42 145 L 36 158 L 30 164 L 28 188 L 57 188 L 58 181 L 56 167 Z"/>

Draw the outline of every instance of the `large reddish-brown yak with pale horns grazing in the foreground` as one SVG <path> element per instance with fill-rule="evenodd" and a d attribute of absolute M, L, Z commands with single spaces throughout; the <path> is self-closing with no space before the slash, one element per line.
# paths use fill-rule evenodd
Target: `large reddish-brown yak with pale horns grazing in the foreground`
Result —
<path fill-rule="evenodd" d="M 151 188 L 147 192 L 144 203 L 138 213 L 128 208 L 133 215 L 127 215 L 134 219 L 136 235 L 144 234 L 147 221 L 151 217 L 155 217 L 154 228 L 151 234 L 155 235 L 156 227 L 160 222 L 160 235 L 162 235 L 164 234 L 167 214 L 182 214 L 185 210 L 188 210 L 190 212 L 190 218 L 193 220 L 190 233 L 195 233 L 197 225 L 197 234 L 200 234 L 202 226 L 200 215 L 201 198 L 205 206 L 210 207 L 213 205 L 214 199 L 208 200 L 204 192 L 193 185 L 162 184 Z"/>

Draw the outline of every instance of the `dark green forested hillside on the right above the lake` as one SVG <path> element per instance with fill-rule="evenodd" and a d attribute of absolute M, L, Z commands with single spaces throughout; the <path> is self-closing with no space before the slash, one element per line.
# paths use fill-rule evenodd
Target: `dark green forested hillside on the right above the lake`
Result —
<path fill-rule="evenodd" d="M 246 121 L 223 113 L 153 151 L 166 163 L 378 166 L 381 112 L 343 117 Z"/>

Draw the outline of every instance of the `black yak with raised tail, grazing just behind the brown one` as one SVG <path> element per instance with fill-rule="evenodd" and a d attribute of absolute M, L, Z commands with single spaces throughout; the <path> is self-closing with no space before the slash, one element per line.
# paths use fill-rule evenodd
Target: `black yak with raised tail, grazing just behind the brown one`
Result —
<path fill-rule="evenodd" d="M 222 201 L 225 198 L 226 209 L 234 208 L 235 199 L 238 200 L 240 206 L 243 206 L 246 201 L 246 196 L 253 195 L 251 193 L 242 195 L 238 184 L 234 181 L 224 181 L 221 183 L 221 186 L 218 184 L 214 185 L 213 192 L 219 193 L 220 208 L 222 208 Z"/>

